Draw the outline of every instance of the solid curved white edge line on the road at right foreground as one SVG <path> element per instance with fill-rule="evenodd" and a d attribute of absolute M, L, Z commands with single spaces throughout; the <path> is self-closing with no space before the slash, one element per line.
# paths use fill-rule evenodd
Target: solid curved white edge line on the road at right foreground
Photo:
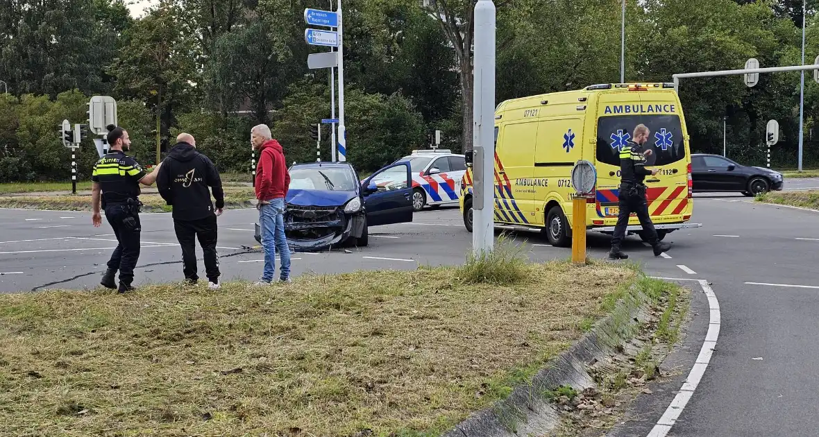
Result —
<path fill-rule="evenodd" d="M 711 286 L 708 286 L 708 281 L 704 279 L 695 279 L 699 282 L 699 286 L 703 287 L 703 292 L 708 297 L 708 309 L 711 310 L 711 319 L 708 323 L 708 334 L 703 341 L 703 347 L 699 349 L 699 355 L 688 373 L 686 382 L 677 392 L 672 403 L 668 405 L 663 417 L 657 421 L 657 425 L 649 432 L 648 437 L 665 437 L 671 431 L 672 426 L 676 423 L 676 419 L 680 417 L 682 410 L 686 408 L 686 404 L 697 389 L 699 381 L 702 379 L 705 369 L 708 368 L 708 363 L 711 362 L 713 349 L 717 346 L 717 337 L 719 337 L 719 327 L 721 324 L 721 316 L 719 309 L 719 301 L 717 295 L 714 294 Z"/>

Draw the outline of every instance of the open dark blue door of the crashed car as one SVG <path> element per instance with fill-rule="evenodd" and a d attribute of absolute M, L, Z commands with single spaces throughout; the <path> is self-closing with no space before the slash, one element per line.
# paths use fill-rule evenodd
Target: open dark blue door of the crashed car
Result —
<path fill-rule="evenodd" d="M 385 178 L 386 172 L 390 173 L 389 178 Z M 379 179 L 388 182 L 373 182 Z M 392 164 L 373 173 L 361 184 L 361 192 L 367 226 L 412 221 L 412 176 L 408 162 Z"/>

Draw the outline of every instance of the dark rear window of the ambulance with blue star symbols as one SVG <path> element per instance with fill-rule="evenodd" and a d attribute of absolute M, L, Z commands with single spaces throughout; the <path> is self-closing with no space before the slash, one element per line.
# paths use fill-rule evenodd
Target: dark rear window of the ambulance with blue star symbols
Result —
<path fill-rule="evenodd" d="M 620 148 L 631 140 L 637 124 L 651 130 L 644 150 L 654 151 L 656 161 L 649 158 L 649 165 L 673 164 L 686 157 L 678 115 L 614 115 L 597 121 L 597 160 L 619 167 Z"/>

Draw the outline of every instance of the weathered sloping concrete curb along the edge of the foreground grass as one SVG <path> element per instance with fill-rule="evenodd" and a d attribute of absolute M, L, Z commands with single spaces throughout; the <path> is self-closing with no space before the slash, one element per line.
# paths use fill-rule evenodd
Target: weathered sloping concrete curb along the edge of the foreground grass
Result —
<path fill-rule="evenodd" d="M 639 324 L 649 319 L 648 302 L 648 297 L 632 286 L 609 316 L 537 372 L 531 384 L 519 385 L 509 398 L 473 413 L 443 437 L 514 437 L 544 435 L 554 430 L 561 422 L 561 413 L 543 394 L 560 385 L 570 385 L 577 391 L 596 387 L 590 373 L 593 366 L 606 366 L 618 347 L 631 349 L 625 344 Z"/>

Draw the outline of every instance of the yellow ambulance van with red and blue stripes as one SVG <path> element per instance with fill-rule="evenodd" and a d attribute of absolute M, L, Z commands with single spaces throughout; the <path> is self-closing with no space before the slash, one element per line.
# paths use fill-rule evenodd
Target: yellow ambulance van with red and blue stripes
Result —
<path fill-rule="evenodd" d="M 495 224 L 537 228 L 553 246 L 570 246 L 572 167 L 595 165 L 595 193 L 586 201 L 586 228 L 611 233 L 618 218 L 620 150 L 634 128 L 650 130 L 645 149 L 649 214 L 662 240 L 688 223 L 693 211 L 686 120 L 673 83 L 603 83 L 500 103 L 495 110 Z M 461 184 L 461 212 L 472 232 L 472 153 Z M 635 214 L 629 233 L 641 230 Z"/>

